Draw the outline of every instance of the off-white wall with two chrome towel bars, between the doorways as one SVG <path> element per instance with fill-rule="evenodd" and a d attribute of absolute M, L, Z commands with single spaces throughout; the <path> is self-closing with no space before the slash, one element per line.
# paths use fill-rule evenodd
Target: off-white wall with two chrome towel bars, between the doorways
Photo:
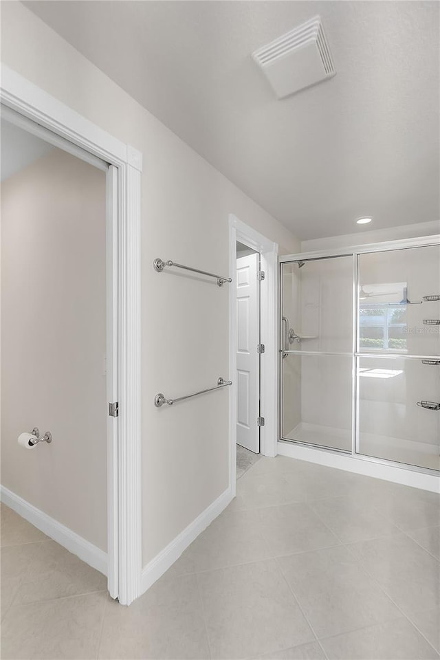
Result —
<path fill-rule="evenodd" d="M 295 237 L 19 3 L 2 7 L 2 59 L 144 154 L 142 520 L 146 564 L 228 487 L 228 392 L 157 409 L 228 375 L 228 287 L 153 271 L 155 257 L 228 273 L 228 214 Z"/>

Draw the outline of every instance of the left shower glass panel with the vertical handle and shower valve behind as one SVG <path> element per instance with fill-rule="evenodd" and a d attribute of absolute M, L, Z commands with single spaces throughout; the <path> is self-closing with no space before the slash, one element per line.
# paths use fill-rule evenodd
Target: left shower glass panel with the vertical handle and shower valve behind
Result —
<path fill-rule="evenodd" d="M 281 439 L 351 451 L 353 258 L 281 265 Z"/>

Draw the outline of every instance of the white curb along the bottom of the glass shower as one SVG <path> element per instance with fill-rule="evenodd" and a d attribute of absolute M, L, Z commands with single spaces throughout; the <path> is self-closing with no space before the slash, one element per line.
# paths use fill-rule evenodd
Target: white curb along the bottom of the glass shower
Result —
<path fill-rule="evenodd" d="M 401 483 L 413 488 L 430 490 L 434 493 L 440 492 L 440 479 L 434 474 L 425 474 L 407 470 L 405 467 L 396 467 L 395 465 L 384 465 L 376 463 L 357 456 L 349 456 L 315 447 L 302 447 L 296 443 L 279 442 L 278 454 L 289 456 L 292 459 L 300 461 L 309 461 L 318 463 L 318 465 L 327 465 L 327 467 L 336 467 L 338 470 L 347 470 L 364 476 L 373 476 L 385 481 Z"/>

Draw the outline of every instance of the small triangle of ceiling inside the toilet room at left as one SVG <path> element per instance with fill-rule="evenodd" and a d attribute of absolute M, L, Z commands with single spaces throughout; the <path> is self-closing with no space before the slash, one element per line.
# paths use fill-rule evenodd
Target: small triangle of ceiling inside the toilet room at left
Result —
<path fill-rule="evenodd" d="M 0 181 L 5 181 L 42 158 L 54 147 L 4 119 L 0 122 Z"/>

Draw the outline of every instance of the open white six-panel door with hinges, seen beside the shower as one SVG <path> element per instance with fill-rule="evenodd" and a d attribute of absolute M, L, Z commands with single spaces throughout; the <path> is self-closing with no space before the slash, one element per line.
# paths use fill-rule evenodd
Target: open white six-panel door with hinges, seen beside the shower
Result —
<path fill-rule="evenodd" d="M 236 441 L 256 454 L 260 451 L 258 259 L 258 254 L 250 254 L 236 260 Z"/>

